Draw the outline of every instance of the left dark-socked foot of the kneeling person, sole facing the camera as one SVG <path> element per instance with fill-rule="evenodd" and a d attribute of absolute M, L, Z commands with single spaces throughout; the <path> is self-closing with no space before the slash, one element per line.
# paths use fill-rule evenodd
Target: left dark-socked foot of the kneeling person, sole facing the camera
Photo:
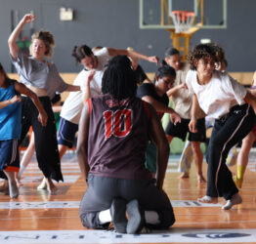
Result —
<path fill-rule="evenodd" d="M 110 207 L 110 214 L 114 230 L 118 233 L 126 233 L 126 202 L 121 198 L 114 198 Z"/>

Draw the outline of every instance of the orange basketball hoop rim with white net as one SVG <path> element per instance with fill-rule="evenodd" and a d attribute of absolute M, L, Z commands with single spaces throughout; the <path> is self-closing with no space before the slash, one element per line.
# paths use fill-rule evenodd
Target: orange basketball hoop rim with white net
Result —
<path fill-rule="evenodd" d="M 191 28 L 194 12 L 172 11 L 170 16 L 175 26 L 175 33 L 182 33 Z"/>

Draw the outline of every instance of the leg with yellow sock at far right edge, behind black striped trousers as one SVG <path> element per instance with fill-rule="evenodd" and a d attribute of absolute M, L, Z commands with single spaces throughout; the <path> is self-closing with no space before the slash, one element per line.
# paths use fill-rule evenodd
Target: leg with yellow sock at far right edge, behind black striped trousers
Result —
<path fill-rule="evenodd" d="M 241 149 L 237 156 L 237 173 L 236 176 L 233 178 L 236 187 L 241 188 L 243 182 L 243 175 L 245 173 L 250 149 L 255 141 L 255 135 L 253 132 L 250 132 L 243 140 L 241 144 Z"/>

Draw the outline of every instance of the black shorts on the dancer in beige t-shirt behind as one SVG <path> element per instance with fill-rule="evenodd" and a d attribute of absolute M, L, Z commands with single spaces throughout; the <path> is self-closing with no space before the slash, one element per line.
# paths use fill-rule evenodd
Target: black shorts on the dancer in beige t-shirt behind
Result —
<path fill-rule="evenodd" d="M 196 129 L 197 133 L 192 133 L 189 129 L 190 119 L 183 119 L 181 123 L 174 125 L 169 121 L 167 128 L 165 129 L 165 134 L 174 138 L 180 138 L 185 141 L 187 134 L 189 133 L 190 142 L 205 142 L 206 141 L 206 130 L 205 130 L 205 119 L 197 119 Z"/>

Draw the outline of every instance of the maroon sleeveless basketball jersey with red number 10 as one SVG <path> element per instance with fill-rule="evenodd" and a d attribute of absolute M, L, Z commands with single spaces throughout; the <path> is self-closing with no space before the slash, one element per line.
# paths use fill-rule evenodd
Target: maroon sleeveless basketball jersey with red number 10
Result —
<path fill-rule="evenodd" d="M 138 98 L 121 102 L 110 95 L 88 101 L 90 173 L 119 179 L 147 179 L 149 103 Z"/>

